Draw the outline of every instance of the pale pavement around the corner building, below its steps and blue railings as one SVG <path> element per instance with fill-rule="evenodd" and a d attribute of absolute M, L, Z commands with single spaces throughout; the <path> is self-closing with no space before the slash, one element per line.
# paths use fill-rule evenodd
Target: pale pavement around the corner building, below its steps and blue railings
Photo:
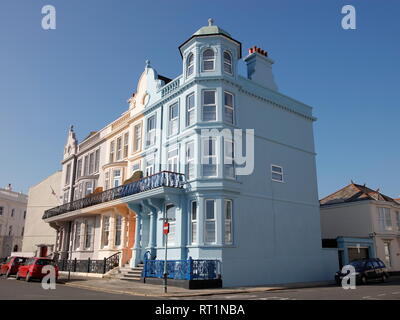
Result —
<path fill-rule="evenodd" d="M 164 287 L 160 285 L 145 284 L 142 282 L 124 281 L 118 279 L 98 279 L 98 278 L 83 278 L 73 277 L 67 281 L 65 276 L 60 277 L 61 285 L 77 287 L 88 290 L 108 292 L 114 294 L 129 294 L 135 296 L 147 296 L 163 298 L 163 297 L 195 297 L 220 294 L 238 294 L 251 292 L 265 292 L 273 290 L 305 288 L 305 287 L 321 287 L 332 284 L 332 282 L 313 282 L 313 283 L 297 283 L 290 285 L 277 286 L 259 286 L 259 287 L 236 287 L 236 288 L 219 288 L 219 289 L 201 289 L 189 290 L 178 287 L 168 287 L 168 293 L 164 294 Z"/>

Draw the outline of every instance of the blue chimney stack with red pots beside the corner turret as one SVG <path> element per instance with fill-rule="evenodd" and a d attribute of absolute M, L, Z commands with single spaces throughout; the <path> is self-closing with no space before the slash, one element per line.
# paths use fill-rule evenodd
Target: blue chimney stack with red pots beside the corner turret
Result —
<path fill-rule="evenodd" d="M 249 49 L 248 56 L 244 59 L 247 64 L 247 78 L 263 87 L 278 91 L 272 74 L 274 61 L 268 58 L 268 52 L 253 46 Z"/>

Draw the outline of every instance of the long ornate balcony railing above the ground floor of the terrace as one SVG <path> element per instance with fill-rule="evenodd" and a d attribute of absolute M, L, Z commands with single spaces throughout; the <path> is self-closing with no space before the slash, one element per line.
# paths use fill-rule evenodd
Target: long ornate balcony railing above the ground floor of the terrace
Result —
<path fill-rule="evenodd" d="M 65 203 L 61 206 L 46 210 L 43 219 L 58 216 L 63 213 L 91 207 L 100 203 L 124 198 L 133 194 L 148 191 L 159 187 L 182 189 L 185 184 L 185 175 L 182 173 L 161 171 L 119 187 L 93 194 L 83 199 Z"/>

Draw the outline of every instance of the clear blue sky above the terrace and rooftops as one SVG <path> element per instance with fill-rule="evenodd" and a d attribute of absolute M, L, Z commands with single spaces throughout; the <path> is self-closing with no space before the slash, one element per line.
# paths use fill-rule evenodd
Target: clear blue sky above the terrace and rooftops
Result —
<path fill-rule="evenodd" d="M 41 28 L 46 4 L 56 30 Z M 345 4 L 357 30 L 341 28 Z M 146 59 L 176 77 L 178 46 L 212 17 L 244 54 L 267 50 L 280 91 L 314 107 L 320 196 L 352 179 L 397 197 L 399 9 L 396 0 L 2 0 L 0 185 L 27 192 L 58 170 L 69 125 L 83 139 L 124 112 Z"/>

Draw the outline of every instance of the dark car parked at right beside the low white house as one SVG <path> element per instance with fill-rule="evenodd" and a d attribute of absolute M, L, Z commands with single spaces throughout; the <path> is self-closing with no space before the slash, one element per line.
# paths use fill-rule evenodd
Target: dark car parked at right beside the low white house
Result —
<path fill-rule="evenodd" d="M 355 260 L 350 262 L 349 265 L 355 268 L 357 283 L 367 284 L 370 280 L 386 282 L 389 278 L 385 264 L 378 258 Z M 336 272 L 335 281 L 338 285 L 341 284 L 344 276 L 346 276 L 346 274 L 341 271 Z"/>

